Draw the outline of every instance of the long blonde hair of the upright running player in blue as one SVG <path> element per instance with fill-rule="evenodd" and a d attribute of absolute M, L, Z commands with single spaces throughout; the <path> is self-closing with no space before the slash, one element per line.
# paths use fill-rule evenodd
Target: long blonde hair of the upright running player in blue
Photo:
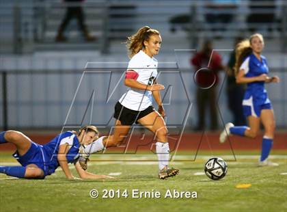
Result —
<path fill-rule="evenodd" d="M 235 76 L 239 72 L 239 68 L 241 64 L 243 63 L 243 59 L 245 59 L 247 55 L 252 53 L 251 41 L 253 38 L 259 38 L 264 43 L 262 34 L 256 33 L 256 34 L 251 35 L 249 39 L 245 39 L 236 45 L 236 53 L 235 53 L 236 62 L 234 65 Z"/>

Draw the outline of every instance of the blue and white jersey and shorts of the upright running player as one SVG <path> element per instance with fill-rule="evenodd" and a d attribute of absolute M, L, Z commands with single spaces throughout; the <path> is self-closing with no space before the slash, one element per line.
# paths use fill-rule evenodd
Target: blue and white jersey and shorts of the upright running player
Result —
<path fill-rule="evenodd" d="M 269 73 L 266 58 L 264 56 L 260 57 L 261 61 L 252 53 L 245 58 L 239 68 L 239 70 L 244 70 L 245 77 L 258 77 Z M 243 109 L 245 116 L 256 117 L 260 116 L 262 109 L 271 109 L 271 102 L 268 98 L 267 90 L 264 88 L 264 81 L 247 83 L 247 90 L 243 99 Z"/>

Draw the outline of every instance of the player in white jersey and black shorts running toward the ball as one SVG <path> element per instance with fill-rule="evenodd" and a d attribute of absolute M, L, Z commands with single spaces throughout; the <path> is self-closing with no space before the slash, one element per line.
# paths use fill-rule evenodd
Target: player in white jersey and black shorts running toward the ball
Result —
<path fill-rule="evenodd" d="M 104 148 L 118 146 L 136 122 L 156 135 L 156 154 L 159 159 L 159 178 L 175 176 L 179 170 L 168 167 L 169 144 L 167 127 L 163 117 L 165 110 L 161 101 L 160 90 L 164 85 L 156 82 L 157 64 L 153 57 L 161 49 L 161 35 L 156 29 L 141 27 L 136 34 L 128 37 L 127 48 L 131 58 L 126 70 L 124 84 L 128 87 L 115 105 L 115 129 L 113 135 L 100 137 L 83 151 L 87 154 L 96 153 Z M 159 105 L 158 111 L 152 107 L 152 97 Z M 85 159 L 81 159 L 83 164 Z"/>

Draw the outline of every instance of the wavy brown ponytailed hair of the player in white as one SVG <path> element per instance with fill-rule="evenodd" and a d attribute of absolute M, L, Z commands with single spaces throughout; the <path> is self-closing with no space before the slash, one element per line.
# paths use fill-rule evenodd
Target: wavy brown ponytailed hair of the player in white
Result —
<path fill-rule="evenodd" d="M 141 27 L 133 36 L 129 36 L 126 40 L 126 49 L 128 50 L 128 57 L 133 57 L 141 49 L 144 48 L 143 42 L 149 40 L 152 35 L 160 35 L 159 31 L 148 26 Z"/>

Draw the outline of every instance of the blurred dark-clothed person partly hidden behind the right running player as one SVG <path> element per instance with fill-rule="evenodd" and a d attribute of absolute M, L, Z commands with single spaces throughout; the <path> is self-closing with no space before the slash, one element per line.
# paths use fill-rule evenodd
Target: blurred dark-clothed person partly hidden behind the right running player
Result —
<path fill-rule="evenodd" d="M 241 42 L 243 38 L 236 38 L 234 43 L 234 49 L 236 44 Z M 243 115 L 242 101 L 245 93 L 245 85 L 237 84 L 234 75 L 234 65 L 235 65 L 235 50 L 230 54 L 228 61 L 227 73 L 227 94 L 228 94 L 228 108 L 232 112 L 233 123 L 236 126 L 246 125 L 246 119 Z"/>

